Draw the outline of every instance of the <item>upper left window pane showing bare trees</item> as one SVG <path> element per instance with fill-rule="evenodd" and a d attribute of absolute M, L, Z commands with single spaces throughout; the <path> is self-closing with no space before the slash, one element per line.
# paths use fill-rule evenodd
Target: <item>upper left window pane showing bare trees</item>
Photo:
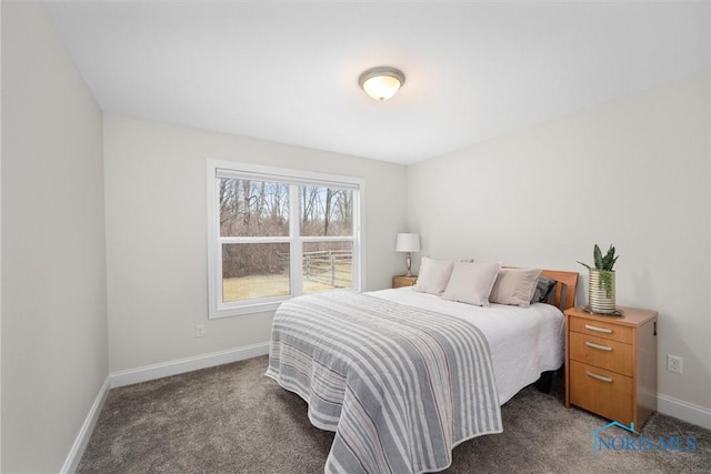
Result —
<path fill-rule="evenodd" d="M 289 235 L 289 184 L 218 180 L 221 236 Z"/>

